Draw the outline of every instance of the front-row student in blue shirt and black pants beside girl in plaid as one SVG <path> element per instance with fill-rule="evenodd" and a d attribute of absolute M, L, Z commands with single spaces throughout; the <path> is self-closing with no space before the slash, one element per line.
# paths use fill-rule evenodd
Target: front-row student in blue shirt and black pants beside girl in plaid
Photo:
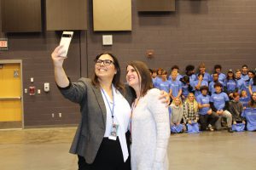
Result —
<path fill-rule="evenodd" d="M 213 126 L 215 122 L 218 121 L 218 115 L 216 112 L 212 112 L 210 107 L 210 96 L 208 93 L 208 87 L 202 86 L 200 88 L 201 94 L 196 97 L 199 108 L 199 121 L 201 123 L 201 130 L 207 130 L 207 127 L 210 131 L 213 131 Z"/>

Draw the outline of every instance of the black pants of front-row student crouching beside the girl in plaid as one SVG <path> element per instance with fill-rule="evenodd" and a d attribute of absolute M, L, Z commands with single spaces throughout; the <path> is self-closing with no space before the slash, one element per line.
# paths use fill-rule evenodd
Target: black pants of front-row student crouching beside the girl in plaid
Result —
<path fill-rule="evenodd" d="M 212 112 L 211 115 L 199 115 L 199 121 L 201 123 L 201 130 L 206 130 L 208 124 L 214 126 L 215 122 L 218 121 L 218 115 Z"/>

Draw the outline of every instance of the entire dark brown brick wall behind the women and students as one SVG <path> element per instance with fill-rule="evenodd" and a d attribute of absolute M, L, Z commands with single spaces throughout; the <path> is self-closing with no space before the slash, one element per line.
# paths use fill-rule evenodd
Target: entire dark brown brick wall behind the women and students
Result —
<path fill-rule="evenodd" d="M 102 51 L 118 56 L 123 73 L 133 59 L 167 71 L 179 65 L 182 72 L 185 65 L 197 66 L 201 61 L 210 72 L 215 64 L 223 65 L 223 71 L 242 64 L 256 67 L 255 0 L 177 0 L 176 5 L 177 11 L 172 13 L 137 13 L 132 0 L 132 31 L 93 32 L 89 1 L 89 30 L 75 32 L 65 63 L 67 75 L 73 81 L 81 75 L 90 76 L 93 59 Z M 113 46 L 102 46 L 103 34 L 113 35 Z M 49 94 L 25 94 L 25 125 L 79 122 L 79 106 L 63 99 L 54 82 L 50 54 L 60 41 L 61 31 L 3 34 L 0 27 L 0 37 L 9 38 L 9 51 L 0 52 L 0 59 L 23 60 L 24 88 L 31 84 L 30 77 L 41 89 L 43 82 L 50 82 Z M 154 49 L 153 59 L 145 57 L 147 49 Z M 51 118 L 53 112 L 61 112 L 62 117 Z"/>

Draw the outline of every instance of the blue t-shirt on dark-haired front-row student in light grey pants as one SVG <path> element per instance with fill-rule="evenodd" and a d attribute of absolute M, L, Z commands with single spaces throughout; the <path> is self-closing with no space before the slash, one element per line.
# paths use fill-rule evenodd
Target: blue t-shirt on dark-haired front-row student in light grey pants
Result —
<path fill-rule="evenodd" d="M 219 94 L 214 93 L 211 95 L 211 98 L 210 98 L 210 102 L 213 103 L 217 111 L 224 109 L 226 101 L 229 101 L 229 97 L 224 92 L 221 92 Z"/>

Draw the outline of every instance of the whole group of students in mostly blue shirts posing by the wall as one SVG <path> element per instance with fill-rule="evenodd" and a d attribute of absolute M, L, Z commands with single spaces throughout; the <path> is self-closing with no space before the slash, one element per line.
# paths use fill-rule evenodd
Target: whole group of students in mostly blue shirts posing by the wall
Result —
<path fill-rule="evenodd" d="M 191 126 L 198 125 L 201 131 L 214 131 L 214 127 L 220 130 L 223 117 L 230 133 L 240 124 L 246 125 L 246 108 L 256 108 L 255 71 L 248 71 L 247 65 L 227 74 L 221 69 L 221 65 L 214 65 L 210 75 L 204 63 L 199 65 L 198 73 L 194 65 L 187 65 L 185 75 L 181 76 L 179 67 L 173 65 L 169 77 L 163 69 L 150 70 L 154 88 L 165 90 L 172 99 L 169 109 L 172 133 L 189 132 Z M 199 127 L 195 132 L 199 132 Z"/>

